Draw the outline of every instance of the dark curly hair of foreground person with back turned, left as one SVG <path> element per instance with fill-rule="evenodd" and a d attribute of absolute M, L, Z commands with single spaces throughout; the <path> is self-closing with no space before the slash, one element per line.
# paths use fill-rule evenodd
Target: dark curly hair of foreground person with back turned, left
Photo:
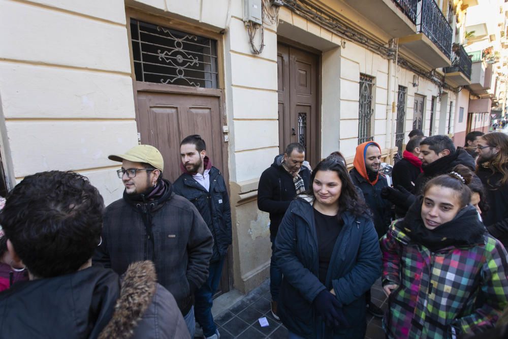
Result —
<path fill-rule="evenodd" d="M 75 272 L 97 249 L 104 200 L 78 173 L 26 176 L 7 195 L 0 224 L 26 268 L 38 278 Z"/>

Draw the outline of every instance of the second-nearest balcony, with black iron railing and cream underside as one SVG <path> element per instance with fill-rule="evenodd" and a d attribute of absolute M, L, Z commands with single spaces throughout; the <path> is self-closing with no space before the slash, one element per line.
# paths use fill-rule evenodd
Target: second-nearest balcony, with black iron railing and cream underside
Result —
<path fill-rule="evenodd" d="M 399 38 L 406 47 L 432 68 L 451 66 L 453 29 L 434 0 L 418 4 L 417 34 Z"/>

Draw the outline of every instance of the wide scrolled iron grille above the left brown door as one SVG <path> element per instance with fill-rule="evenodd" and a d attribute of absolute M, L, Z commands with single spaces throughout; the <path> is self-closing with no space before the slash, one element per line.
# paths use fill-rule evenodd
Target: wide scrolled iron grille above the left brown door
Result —
<path fill-rule="evenodd" d="M 217 88 L 216 41 L 131 19 L 136 80 Z"/>

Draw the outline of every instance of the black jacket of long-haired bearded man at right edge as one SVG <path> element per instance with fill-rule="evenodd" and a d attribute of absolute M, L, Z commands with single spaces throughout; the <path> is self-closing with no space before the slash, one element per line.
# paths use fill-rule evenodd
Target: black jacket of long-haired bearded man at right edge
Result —
<path fill-rule="evenodd" d="M 492 173 L 488 168 L 480 165 L 477 175 L 482 180 L 483 187 L 487 192 L 487 203 L 489 210 L 482 215 L 483 223 L 487 226 L 489 233 L 499 239 L 508 249 L 508 184 L 501 184 L 502 174 Z"/>

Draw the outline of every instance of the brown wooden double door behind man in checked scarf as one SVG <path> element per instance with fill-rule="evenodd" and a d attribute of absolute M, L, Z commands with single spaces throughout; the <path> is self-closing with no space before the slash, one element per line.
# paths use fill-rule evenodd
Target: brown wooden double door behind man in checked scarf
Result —
<path fill-rule="evenodd" d="M 318 57 L 277 44 L 279 151 L 292 142 L 305 147 L 312 166 L 320 160 L 317 101 Z"/>

